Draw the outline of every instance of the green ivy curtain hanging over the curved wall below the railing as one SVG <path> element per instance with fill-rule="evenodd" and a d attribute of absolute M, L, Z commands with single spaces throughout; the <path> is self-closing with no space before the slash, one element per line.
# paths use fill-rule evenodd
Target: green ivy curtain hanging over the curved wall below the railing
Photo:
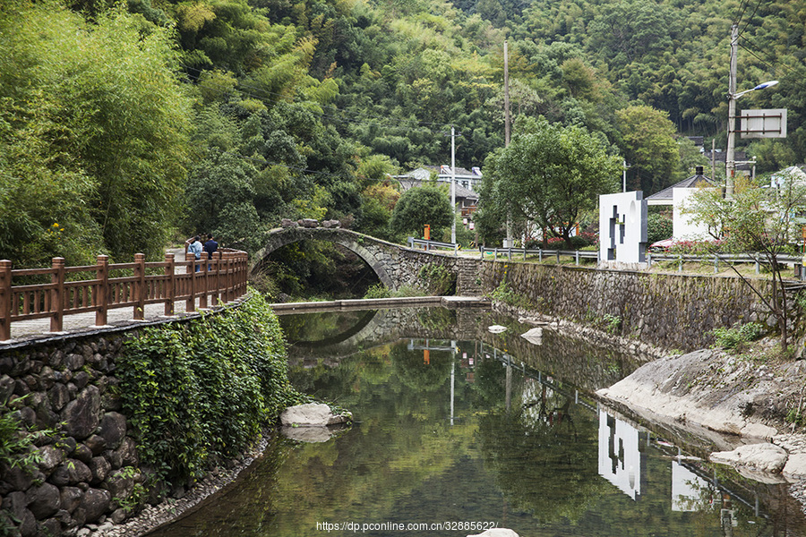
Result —
<path fill-rule="evenodd" d="M 124 412 L 161 477 L 236 456 L 298 399 L 279 322 L 260 294 L 187 324 L 146 328 L 118 366 Z"/>

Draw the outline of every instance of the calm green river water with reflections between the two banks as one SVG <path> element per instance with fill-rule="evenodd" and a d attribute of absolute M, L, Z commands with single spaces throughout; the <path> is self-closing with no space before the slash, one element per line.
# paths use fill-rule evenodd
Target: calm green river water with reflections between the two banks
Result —
<path fill-rule="evenodd" d="M 617 351 L 549 329 L 527 340 L 532 327 L 477 310 L 281 323 L 295 386 L 355 422 L 326 441 L 273 439 L 151 535 L 806 535 L 785 485 L 707 465 L 707 440 L 598 405 L 593 391 L 639 365 Z"/>

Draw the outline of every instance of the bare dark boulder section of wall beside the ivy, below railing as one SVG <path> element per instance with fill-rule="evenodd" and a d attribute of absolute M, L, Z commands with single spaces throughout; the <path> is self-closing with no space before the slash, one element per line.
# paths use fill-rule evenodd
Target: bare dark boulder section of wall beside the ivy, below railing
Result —
<path fill-rule="evenodd" d="M 143 477 L 116 393 L 123 340 L 81 337 L 0 355 L 0 402 L 29 427 L 60 431 L 35 440 L 40 461 L 32 475 L 2 469 L 2 509 L 23 537 L 124 520 L 123 505 Z"/>

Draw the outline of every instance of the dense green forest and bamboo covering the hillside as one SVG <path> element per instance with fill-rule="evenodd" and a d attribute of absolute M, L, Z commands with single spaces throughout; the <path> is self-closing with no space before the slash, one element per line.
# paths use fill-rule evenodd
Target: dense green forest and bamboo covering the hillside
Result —
<path fill-rule="evenodd" d="M 282 217 L 396 239 L 389 175 L 483 166 L 510 107 L 577 126 L 651 194 L 725 147 L 741 107 L 789 110 L 759 170 L 806 160 L 806 0 L 4 0 L 0 257 L 15 266 L 216 234 L 253 250 Z M 516 132 L 517 134 L 517 132 Z M 742 141 L 741 143 L 744 143 Z M 488 226 L 489 227 L 489 226 Z"/>

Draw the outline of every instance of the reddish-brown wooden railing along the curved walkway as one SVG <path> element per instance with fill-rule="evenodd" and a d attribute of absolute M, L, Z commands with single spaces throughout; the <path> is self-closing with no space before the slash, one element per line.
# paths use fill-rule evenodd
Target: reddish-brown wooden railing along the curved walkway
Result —
<path fill-rule="evenodd" d="M 174 303 L 185 301 L 185 311 L 229 303 L 246 294 L 248 257 L 245 251 L 219 249 L 212 259 L 177 261 L 166 253 L 164 261 L 146 262 L 142 253 L 133 263 L 109 263 L 99 255 L 95 265 L 65 267 L 64 258 L 53 258 L 50 268 L 13 269 L 0 260 L 0 340 L 11 339 L 14 321 L 50 318 L 50 331 L 61 332 L 64 316 L 95 312 L 95 325 L 107 324 L 109 310 L 133 308 L 133 319 L 143 320 L 146 304 L 164 303 L 165 315 L 174 314 Z M 176 274 L 177 267 L 185 267 Z M 110 277 L 123 271 L 131 276 Z M 50 283 L 14 285 L 14 280 L 49 277 Z M 86 278 L 86 279 L 84 279 Z"/>

